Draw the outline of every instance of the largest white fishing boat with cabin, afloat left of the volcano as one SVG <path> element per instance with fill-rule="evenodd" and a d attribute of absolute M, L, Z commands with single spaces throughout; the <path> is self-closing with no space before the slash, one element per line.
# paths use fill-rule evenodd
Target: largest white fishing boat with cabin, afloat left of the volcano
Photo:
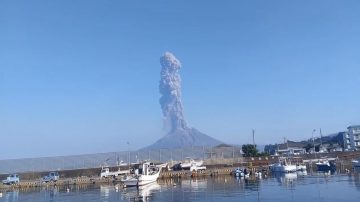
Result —
<path fill-rule="evenodd" d="M 140 164 L 140 167 L 135 169 L 134 175 L 126 176 L 121 182 L 126 187 L 143 186 L 156 182 L 161 172 L 161 168 L 155 166 L 153 163 L 146 162 Z"/>

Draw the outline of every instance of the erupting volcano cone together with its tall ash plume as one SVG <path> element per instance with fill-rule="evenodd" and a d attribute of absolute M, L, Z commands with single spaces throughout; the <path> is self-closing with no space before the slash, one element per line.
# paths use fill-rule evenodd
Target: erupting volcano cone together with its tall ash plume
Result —
<path fill-rule="evenodd" d="M 181 102 L 180 61 L 169 52 L 160 58 L 161 73 L 159 90 L 160 105 L 164 117 L 166 135 L 146 149 L 179 148 L 189 146 L 215 146 L 216 140 L 195 128 L 187 126 Z"/>

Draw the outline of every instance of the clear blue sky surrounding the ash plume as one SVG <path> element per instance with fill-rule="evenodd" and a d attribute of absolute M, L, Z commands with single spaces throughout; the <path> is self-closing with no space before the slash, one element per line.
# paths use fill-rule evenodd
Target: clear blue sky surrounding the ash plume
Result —
<path fill-rule="evenodd" d="M 190 126 L 226 143 L 360 123 L 359 1 L 1 1 L 0 159 L 164 135 L 159 57 Z M 15 145 L 14 146 L 14 143 Z M 129 142 L 129 145 L 126 144 Z"/>

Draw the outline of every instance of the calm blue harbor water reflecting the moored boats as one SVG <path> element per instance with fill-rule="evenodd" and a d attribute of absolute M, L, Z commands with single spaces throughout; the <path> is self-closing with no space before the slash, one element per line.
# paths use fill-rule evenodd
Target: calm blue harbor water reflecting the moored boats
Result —
<path fill-rule="evenodd" d="M 118 184 L 2 191 L 0 201 L 359 201 L 360 174 L 289 173 L 158 180 L 141 188 Z"/>

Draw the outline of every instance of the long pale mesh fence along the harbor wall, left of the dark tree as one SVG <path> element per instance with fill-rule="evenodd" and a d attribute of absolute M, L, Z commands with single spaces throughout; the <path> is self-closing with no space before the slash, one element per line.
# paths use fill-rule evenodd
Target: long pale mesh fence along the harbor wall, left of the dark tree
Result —
<path fill-rule="evenodd" d="M 186 158 L 203 159 L 205 162 L 231 163 L 242 159 L 240 147 L 189 147 L 122 151 L 74 156 L 0 160 L 0 174 L 98 168 L 102 165 L 118 166 L 150 160 L 156 163 L 183 161 Z"/>

